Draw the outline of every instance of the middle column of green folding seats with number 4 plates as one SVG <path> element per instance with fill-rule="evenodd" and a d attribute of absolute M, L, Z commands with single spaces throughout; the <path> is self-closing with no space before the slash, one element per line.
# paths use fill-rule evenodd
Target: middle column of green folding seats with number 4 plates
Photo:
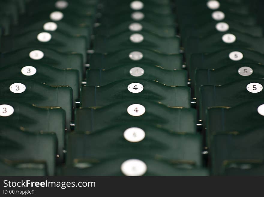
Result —
<path fill-rule="evenodd" d="M 208 175 L 171 2 L 99 5 L 62 174 Z"/>

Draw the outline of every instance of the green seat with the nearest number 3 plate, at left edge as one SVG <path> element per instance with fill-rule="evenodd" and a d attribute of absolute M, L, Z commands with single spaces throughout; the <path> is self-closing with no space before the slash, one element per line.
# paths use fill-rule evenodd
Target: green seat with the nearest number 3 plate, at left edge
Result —
<path fill-rule="evenodd" d="M 54 132 L 58 138 L 58 158 L 64 158 L 65 111 L 59 107 L 36 107 L 30 104 L 0 100 L 1 125 L 28 132 Z"/>

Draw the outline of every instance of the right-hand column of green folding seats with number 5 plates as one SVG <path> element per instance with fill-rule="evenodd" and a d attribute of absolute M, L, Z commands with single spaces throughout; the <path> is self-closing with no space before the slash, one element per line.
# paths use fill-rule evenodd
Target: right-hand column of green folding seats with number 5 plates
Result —
<path fill-rule="evenodd" d="M 211 174 L 260 175 L 264 115 L 263 26 L 257 23 L 256 9 L 260 1 L 176 2 Z"/>

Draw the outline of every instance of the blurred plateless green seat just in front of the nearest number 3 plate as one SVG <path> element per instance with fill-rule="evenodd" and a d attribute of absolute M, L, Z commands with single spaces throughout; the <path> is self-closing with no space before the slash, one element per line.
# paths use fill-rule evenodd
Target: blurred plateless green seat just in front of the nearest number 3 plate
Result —
<path fill-rule="evenodd" d="M 1 125 L 0 156 L 10 160 L 45 161 L 48 175 L 55 174 L 57 137 L 55 133 L 27 132 Z"/>

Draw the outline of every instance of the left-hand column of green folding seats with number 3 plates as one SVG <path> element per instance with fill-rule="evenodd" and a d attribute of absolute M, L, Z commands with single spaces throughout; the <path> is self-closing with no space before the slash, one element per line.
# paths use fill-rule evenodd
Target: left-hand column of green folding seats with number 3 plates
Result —
<path fill-rule="evenodd" d="M 0 1 L 1 175 L 55 175 L 64 162 L 97 4 Z"/>

